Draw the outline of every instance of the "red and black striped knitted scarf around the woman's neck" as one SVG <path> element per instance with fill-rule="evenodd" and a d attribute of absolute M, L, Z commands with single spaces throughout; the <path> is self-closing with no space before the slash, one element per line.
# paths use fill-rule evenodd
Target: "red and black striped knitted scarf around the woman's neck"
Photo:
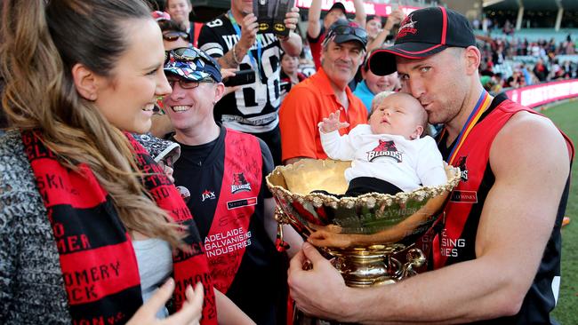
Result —
<path fill-rule="evenodd" d="M 189 252 L 173 252 L 174 305 L 180 309 L 189 284 L 203 282 L 202 324 L 216 324 L 217 313 L 207 259 L 197 227 L 181 195 L 144 147 L 128 133 L 145 186 L 157 205 L 175 222 L 187 226 Z M 79 171 L 62 166 L 38 135 L 22 132 L 28 161 L 36 178 L 52 234 L 60 254 L 60 268 L 73 324 L 116 324 L 128 321 L 142 305 L 140 276 L 131 237 L 113 206 L 85 164 Z"/>

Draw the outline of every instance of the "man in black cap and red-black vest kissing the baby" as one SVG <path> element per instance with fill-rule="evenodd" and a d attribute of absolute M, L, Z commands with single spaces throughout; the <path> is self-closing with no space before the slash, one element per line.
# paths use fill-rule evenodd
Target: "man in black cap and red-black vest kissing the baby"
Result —
<path fill-rule="evenodd" d="M 363 323 L 556 323 L 550 312 L 574 147 L 547 118 L 489 96 L 480 59 L 467 20 L 438 7 L 409 14 L 395 45 L 370 58 L 377 75 L 397 69 L 429 123 L 445 124 L 438 147 L 462 180 L 429 234 L 433 271 L 352 289 L 306 244 L 289 272 L 301 310 Z M 312 271 L 301 270 L 305 258 Z"/>

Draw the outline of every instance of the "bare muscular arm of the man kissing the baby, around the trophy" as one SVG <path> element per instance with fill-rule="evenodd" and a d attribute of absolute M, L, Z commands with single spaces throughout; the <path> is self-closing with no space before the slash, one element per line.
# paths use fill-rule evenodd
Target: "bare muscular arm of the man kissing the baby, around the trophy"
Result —
<path fill-rule="evenodd" d="M 512 117 L 490 151 L 495 183 L 479 221 L 476 259 L 354 289 L 304 244 L 289 270 L 297 307 L 323 318 L 380 324 L 462 323 L 518 313 L 554 226 L 568 161 L 566 143 L 550 121 L 528 113 Z M 301 270 L 305 258 L 312 271 Z"/>

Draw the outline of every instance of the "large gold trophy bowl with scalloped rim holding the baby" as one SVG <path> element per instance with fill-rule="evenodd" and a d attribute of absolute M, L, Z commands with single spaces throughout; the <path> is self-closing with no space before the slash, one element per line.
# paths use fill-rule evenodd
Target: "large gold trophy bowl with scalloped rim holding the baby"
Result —
<path fill-rule="evenodd" d="M 304 159 L 277 166 L 266 178 L 279 224 L 289 224 L 335 266 L 350 287 L 403 280 L 426 263 L 417 242 L 438 218 L 460 170 L 446 166 L 447 183 L 396 195 L 344 194 L 351 162 Z M 281 229 L 281 228 L 280 228 Z M 281 234 L 282 235 L 282 234 Z"/>

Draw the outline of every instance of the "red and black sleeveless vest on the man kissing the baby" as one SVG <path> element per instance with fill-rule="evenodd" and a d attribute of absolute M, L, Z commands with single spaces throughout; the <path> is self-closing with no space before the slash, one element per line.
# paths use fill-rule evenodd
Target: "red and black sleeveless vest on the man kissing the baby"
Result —
<path fill-rule="evenodd" d="M 516 113 L 525 110 L 538 114 L 534 110 L 522 107 L 518 103 L 498 96 L 494 98 L 482 119 L 470 132 L 470 136 L 460 147 L 455 167 L 462 170 L 462 179 L 450 194 L 446 203 L 445 220 L 434 226 L 437 233 L 431 250 L 433 268 L 438 269 L 455 263 L 476 258 L 476 234 L 486 196 L 494 186 L 494 173 L 489 165 L 490 148 L 505 123 Z M 570 139 L 562 133 L 568 144 L 570 156 L 574 157 L 574 147 Z M 449 150 L 446 139 L 438 140 L 438 147 L 446 158 Z M 452 146 L 450 146 L 452 147 Z M 561 238 L 560 226 L 569 190 L 569 177 L 558 207 L 558 216 L 550 240 L 546 246 L 534 283 L 528 291 L 520 312 L 512 317 L 488 321 L 492 324 L 550 324 L 550 311 L 556 304 L 552 281 L 560 275 Z"/>

